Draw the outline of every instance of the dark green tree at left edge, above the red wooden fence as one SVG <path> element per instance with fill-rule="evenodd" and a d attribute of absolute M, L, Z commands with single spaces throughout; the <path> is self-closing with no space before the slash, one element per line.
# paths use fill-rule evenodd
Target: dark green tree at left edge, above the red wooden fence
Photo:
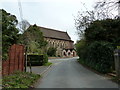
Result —
<path fill-rule="evenodd" d="M 18 40 L 18 29 L 16 25 L 18 20 L 15 15 L 7 13 L 5 10 L 0 9 L 2 12 L 2 59 L 7 59 L 8 48 L 17 43 Z"/>

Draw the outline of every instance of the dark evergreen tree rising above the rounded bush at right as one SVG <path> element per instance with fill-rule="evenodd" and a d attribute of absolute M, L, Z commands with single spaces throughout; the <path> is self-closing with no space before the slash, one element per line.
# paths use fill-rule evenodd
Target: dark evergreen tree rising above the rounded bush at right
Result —
<path fill-rule="evenodd" d="M 120 45 L 120 19 L 96 20 L 85 30 L 87 42 L 105 41 Z"/>

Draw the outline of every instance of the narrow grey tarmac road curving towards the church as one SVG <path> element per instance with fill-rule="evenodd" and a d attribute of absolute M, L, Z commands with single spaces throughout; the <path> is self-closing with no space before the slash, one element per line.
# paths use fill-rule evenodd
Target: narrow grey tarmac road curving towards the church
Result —
<path fill-rule="evenodd" d="M 77 58 L 49 60 L 54 63 L 36 88 L 117 88 L 107 78 L 84 68 Z"/>

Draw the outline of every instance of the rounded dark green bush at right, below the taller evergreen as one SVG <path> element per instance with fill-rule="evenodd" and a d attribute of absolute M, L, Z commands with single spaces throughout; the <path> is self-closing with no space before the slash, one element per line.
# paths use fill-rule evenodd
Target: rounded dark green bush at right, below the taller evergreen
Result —
<path fill-rule="evenodd" d="M 80 60 L 101 73 L 108 73 L 114 62 L 113 50 L 110 43 L 95 41 L 86 48 L 85 54 L 81 53 Z"/>

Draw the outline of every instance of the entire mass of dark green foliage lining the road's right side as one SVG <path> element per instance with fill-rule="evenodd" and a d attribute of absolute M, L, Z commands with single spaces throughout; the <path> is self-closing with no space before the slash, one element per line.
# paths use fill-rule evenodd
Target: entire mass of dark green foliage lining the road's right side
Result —
<path fill-rule="evenodd" d="M 85 28 L 82 40 L 77 42 L 80 62 L 108 73 L 114 70 L 113 51 L 120 45 L 120 18 L 95 20 Z"/>

